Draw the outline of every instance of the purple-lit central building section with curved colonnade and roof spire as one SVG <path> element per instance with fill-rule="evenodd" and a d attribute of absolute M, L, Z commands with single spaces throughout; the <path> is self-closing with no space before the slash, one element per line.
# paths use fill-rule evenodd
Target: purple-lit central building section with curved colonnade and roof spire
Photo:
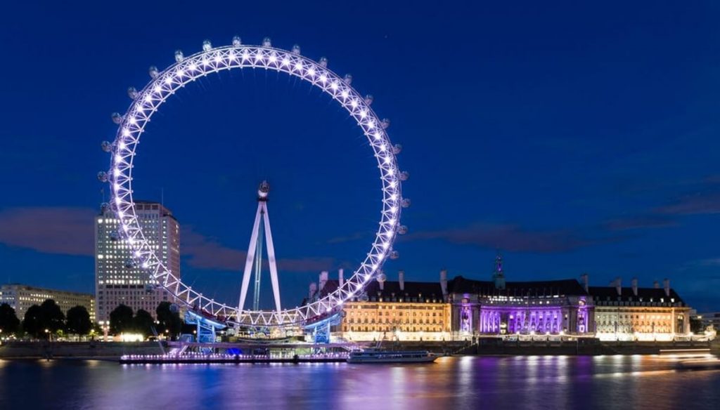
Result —
<path fill-rule="evenodd" d="M 580 283 L 505 281 L 500 255 L 492 281 L 457 276 L 448 288 L 456 337 L 593 332 L 593 300 Z"/>

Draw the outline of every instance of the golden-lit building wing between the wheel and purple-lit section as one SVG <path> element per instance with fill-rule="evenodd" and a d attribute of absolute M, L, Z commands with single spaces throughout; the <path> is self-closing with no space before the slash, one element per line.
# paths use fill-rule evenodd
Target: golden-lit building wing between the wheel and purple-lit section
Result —
<path fill-rule="evenodd" d="M 335 281 L 320 273 L 319 286 L 310 285 L 310 298 L 334 291 L 342 275 Z M 398 281 L 372 281 L 364 293 L 343 304 L 336 334 L 354 341 L 449 340 L 450 306 L 441 283 L 408 282 L 402 270 L 398 276 Z"/>

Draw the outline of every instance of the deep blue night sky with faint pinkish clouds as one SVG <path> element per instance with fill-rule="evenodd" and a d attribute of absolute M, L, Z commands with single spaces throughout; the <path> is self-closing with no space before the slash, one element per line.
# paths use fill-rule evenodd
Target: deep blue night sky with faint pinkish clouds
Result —
<path fill-rule="evenodd" d="M 413 206 L 390 278 L 489 278 L 499 248 L 510 280 L 667 277 L 720 309 L 716 2 L 389 3 L 4 5 L 0 282 L 91 291 L 99 142 L 127 87 L 178 48 L 269 36 L 327 56 L 392 119 Z M 379 216 L 359 129 L 318 90 L 260 70 L 168 101 L 135 172 L 136 198 L 164 191 L 181 222 L 186 280 L 228 301 L 261 179 L 287 305 L 317 270 L 354 267 Z"/>

